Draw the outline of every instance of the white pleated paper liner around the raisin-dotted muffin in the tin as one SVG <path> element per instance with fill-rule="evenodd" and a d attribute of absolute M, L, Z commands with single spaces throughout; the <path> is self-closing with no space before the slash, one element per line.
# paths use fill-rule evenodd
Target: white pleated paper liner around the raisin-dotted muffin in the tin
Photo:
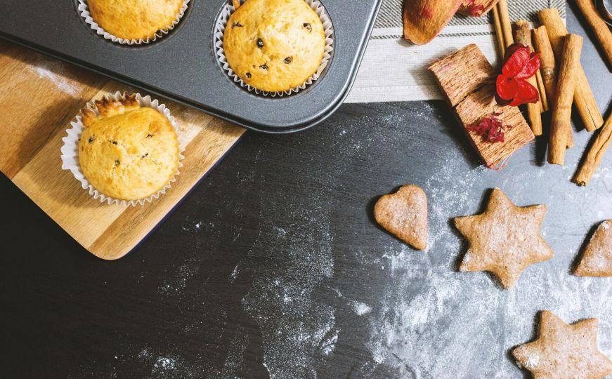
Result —
<path fill-rule="evenodd" d="M 240 4 L 244 3 L 245 1 L 246 0 L 240 0 Z M 221 15 L 219 15 L 219 18 L 217 19 L 217 22 L 215 25 L 214 48 L 215 48 L 216 58 L 217 60 L 219 60 L 221 67 L 223 67 L 223 70 L 225 70 L 228 73 L 230 78 L 232 78 L 233 81 L 235 81 L 235 83 L 240 84 L 240 86 L 243 88 L 247 88 L 248 91 L 254 91 L 258 95 L 271 96 L 271 97 L 275 97 L 275 96 L 282 97 L 284 95 L 291 95 L 292 93 L 297 93 L 303 90 L 304 88 L 306 88 L 306 86 L 310 86 L 311 84 L 313 84 L 313 82 L 319 79 L 319 77 L 323 73 L 323 70 L 325 69 L 325 67 L 327 67 L 327 64 L 330 62 L 330 59 L 332 58 L 332 51 L 334 50 L 334 39 L 333 39 L 334 27 L 332 25 L 332 20 L 330 20 L 330 17 L 327 15 L 327 12 L 325 11 L 325 7 L 323 6 L 323 4 L 320 3 L 320 1 L 318 0 L 304 0 L 304 1 L 306 1 L 306 3 L 313 9 L 313 11 L 317 13 L 321 22 L 323 23 L 323 31 L 325 32 L 325 51 L 323 53 L 323 60 L 321 60 L 321 64 L 319 65 L 319 68 L 317 69 L 317 71 L 310 78 L 308 78 L 307 81 L 305 81 L 300 86 L 297 86 L 297 87 L 294 87 L 287 91 L 282 91 L 282 92 L 263 91 L 253 86 L 250 86 L 249 84 L 246 84 L 245 81 L 240 79 L 240 77 L 238 77 L 237 74 L 233 72 L 233 69 L 230 67 L 228 60 L 226 59 L 226 53 L 223 50 L 223 34 L 226 31 L 226 25 L 228 25 L 228 20 L 230 19 L 230 15 L 235 11 L 235 8 L 232 4 L 229 4 L 231 1 L 229 1 L 228 4 L 226 4 L 226 6 L 223 7 L 223 9 L 221 10 Z"/>

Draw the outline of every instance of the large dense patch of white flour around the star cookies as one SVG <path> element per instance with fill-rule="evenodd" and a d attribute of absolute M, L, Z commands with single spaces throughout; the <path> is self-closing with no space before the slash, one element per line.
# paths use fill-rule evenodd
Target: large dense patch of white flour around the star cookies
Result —
<path fill-rule="evenodd" d="M 599 318 L 599 347 L 612 356 L 612 281 L 568 272 L 580 247 L 580 242 L 569 242 L 576 237 L 568 230 L 582 238 L 601 221 L 597 210 L 611 218 L 607 192 L 569 182 L 559 185 L 559 172 L 549 167 L 537 168 L 546 172 L 534 181 L 528 161 L 497 173 L 470 169 L 455 155 L 442 157 L 441 169 L 424 186 L 429 198 L 428 250 L 415 252 L 402 244 L 384 248 L 389 284 L 368 315 L 367 346 L 374 364 L 364 364 L 360 373 L 385 378 L 522 378 L 509 350 L 534 338 L 541 310 L 568 323 Z M 457 171 L 466 173 L 457 178 Z M 549 188 L 538 187 L 542 182 Z M 481 212 L 487 189 L 494 186 L 520 206 L 548 205 L 542 231 L 556 254 L 528 267 L 510 291 L 500 288 L 490 274 L 457 271 L 467 245 L 452 218 Z M 575 217 L 567 218 L 568 213 Z"/>

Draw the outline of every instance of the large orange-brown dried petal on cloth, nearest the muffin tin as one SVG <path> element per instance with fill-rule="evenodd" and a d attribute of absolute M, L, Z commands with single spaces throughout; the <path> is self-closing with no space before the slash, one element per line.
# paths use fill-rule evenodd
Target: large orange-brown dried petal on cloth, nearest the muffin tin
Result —
<path fill-rule="evenodd" d="M 448 24 L 464 0 L 405 0 L 404 38 L 424 45 Z"/>

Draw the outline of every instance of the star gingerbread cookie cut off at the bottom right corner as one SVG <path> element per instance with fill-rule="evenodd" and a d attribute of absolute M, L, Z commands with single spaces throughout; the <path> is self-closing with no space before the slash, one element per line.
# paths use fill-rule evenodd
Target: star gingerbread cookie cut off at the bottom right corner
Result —
<path fill-rule="evenodd" d="M 512 350 L 519 366 L 534 378 L 595 379 L 612 374 L 612 361 L 597 348 L 597 319 L 573 325 L 542 312 L 538 339 Z"/>

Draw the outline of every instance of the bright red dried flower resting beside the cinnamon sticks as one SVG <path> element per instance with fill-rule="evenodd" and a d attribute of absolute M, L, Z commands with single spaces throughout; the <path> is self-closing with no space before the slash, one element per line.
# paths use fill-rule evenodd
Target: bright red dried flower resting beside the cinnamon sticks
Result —
<path fill-rule="evenodd" d="M 538 102 L 538 89 L 528 83 L 540 69 L 540 53 L 531 53 L 528 46 L 513 44 L 506 50 L 502 73 L 495 82 L 495 98 L 500 105 L 519 105 Z"/>

